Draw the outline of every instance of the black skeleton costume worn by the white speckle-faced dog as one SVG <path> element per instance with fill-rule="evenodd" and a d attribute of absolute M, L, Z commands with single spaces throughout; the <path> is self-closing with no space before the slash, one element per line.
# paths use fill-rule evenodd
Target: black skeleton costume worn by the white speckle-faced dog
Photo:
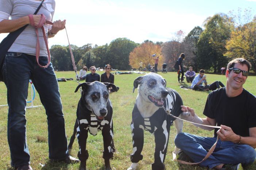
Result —
<path fill-rule="evenodd" d="M 175 90 L 170 88 L 166 89 L 168 95 L 164 100 L 164 108 L 170 110 L 171 114 L 178 117 L 182 113 L 182 99 Z M 163 108 L 159 108 L 151 117 L 143 118 L 135 103 L 131 123 L 133 142 L 131 162 L 137 163 L 143 159 L 143 155 L 141 155 L 144 143 L 143 130 L 146 130 L 155 135 L 155 162 L 152 164 L 152 169 L 164 169 L 163 162 L 166 157 L 170 126 L 173 124 L 174 120 L 175 119 L 170 115 L 167 115 Z"/>

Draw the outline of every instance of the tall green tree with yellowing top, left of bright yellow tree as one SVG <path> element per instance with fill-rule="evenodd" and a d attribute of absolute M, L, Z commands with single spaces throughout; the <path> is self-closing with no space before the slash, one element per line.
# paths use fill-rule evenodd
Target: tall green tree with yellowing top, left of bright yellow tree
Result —
<path fill-rule="evenodd" d="M 216 73 L 228 62 L 224 57 L 226 41 L 230 38 L 233 29 L 226 15 L 216 14 L 210 17 L 205 24 L 205 30 L 198 40 L 198 67 Z"/>

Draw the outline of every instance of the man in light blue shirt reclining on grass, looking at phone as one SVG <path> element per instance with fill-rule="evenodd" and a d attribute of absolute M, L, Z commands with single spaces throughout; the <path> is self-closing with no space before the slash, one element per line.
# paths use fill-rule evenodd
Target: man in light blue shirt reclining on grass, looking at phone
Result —
<path fill-rule="evenodd" d="M 205 86 L 203 86 L 203 83 L 205 84 Z M 215 81 L 212 84 L 207 85 L 205 70 L 203 69 L 201 69 L 199 71 L 199 74 L 195 76 L 191 85 L 193 90 L 200 90 L 200 91 L 216 90 L 216 89 L 219 89 L 220 86 L 224 87 L 225 85 L 220 81 Z"/>

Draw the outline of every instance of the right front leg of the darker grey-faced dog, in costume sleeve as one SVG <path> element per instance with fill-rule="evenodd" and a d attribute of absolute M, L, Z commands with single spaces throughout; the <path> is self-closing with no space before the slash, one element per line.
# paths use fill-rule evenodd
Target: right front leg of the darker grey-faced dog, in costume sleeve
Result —
<path fill-rule="evenodd" d="M 111 125 L 113 127 L 113 124 Z M 113 129 L 109 124 L 106 124 L 102 129 L 102 137 L 103 137 L 103 158 L 105 162 L 105 170 L 111 170 L 109 159 L 113 157 Z"/>

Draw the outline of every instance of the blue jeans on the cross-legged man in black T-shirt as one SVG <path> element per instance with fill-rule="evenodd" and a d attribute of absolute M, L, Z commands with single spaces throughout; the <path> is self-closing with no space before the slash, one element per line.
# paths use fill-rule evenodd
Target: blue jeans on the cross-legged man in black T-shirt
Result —
<path fill-rule="evenodd" d="M 189 133 L 179 133 L 175 137 L 175 145 L 184 151 L 194 162 L 200 162 L 207 154 L 207 151 L 213 146 L 217 138 L 201 137 Z M 214 149 L 212 155 L 205 161 L 200 163 L 200 166 L 208 166 L 209 169 L 224 164 L 248 165 L 255 161 L 256 151 L 249 145 L 238 145 L 233 142 L 220 139 Z"/>

